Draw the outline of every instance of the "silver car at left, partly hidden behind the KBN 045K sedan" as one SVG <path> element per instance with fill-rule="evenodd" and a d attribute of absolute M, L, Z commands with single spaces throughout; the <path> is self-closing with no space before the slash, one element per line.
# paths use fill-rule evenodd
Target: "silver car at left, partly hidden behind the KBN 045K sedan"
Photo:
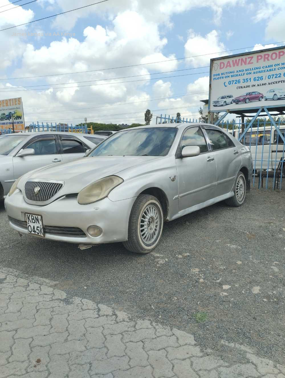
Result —
<path fill-rule="evenodd" d="M 64 132 L 0 136 L 0 201 L 12 183 L 30 170 L 81 158 L 105 136 Z"/>

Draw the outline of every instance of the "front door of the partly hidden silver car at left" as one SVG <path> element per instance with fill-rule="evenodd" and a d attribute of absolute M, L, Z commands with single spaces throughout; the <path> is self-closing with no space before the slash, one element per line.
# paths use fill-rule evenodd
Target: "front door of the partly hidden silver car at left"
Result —
<path fill-rule="evenodd" d="M 59 144 L 54 134 L 34 136 L 22 148 L 32 148 L 35 154 L 24 157 L 13 156 L 15 180 L 30 170 L 62 161 Z"/>

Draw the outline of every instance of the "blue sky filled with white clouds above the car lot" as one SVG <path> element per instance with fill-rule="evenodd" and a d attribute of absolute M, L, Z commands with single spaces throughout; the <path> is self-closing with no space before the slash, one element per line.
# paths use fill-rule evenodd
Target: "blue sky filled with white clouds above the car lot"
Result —
<path fill-rule="evenodd" d="M 96 0 L 14 1 L 0 29 Z M 210 58 L 284 45 L 284 19 L 283 0 L 107 0 L 0 31 L 0 98 L 22 97 L 26 125 L 197 119 Z"/>

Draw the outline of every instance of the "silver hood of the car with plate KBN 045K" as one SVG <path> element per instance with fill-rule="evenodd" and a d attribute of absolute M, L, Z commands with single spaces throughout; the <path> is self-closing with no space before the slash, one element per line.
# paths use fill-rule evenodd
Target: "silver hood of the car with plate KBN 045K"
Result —
<path fill-rule="evenodd" d="M 64 181 L 65 191 L 77 193 L 100 178 L 120 175 L 119 172 L 161 156 L 93 156 L 53 164 L 33 170 L 20 180 L 21 186 L 31 179 Z"/>

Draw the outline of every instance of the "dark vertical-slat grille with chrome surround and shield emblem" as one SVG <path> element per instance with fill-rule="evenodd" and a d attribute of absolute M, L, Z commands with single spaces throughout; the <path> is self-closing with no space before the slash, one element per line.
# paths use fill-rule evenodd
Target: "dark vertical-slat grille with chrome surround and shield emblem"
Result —
<path fill-rule="evenodd" d="M 58 193 L 63 186 L 63 183 L 50 181 L 27 181 L 25 184 L 26 198 L 34 202 L 45 202 L 50 200 L 56 193 Z M 39 187 L 40 190 L 36 194 L 34 189 Z"/>

